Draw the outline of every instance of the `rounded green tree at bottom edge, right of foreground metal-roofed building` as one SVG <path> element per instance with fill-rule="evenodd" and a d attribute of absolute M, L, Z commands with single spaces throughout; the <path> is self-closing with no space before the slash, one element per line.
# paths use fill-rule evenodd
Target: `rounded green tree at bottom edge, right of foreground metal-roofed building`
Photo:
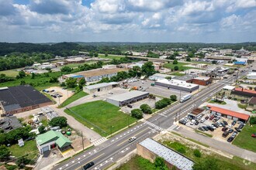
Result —
<path fill-rule="evenodd" d="M 216 158 L 207 157 L 199 162 L 195 162 L 192 166 L 193 170 L 216 170 L 220 169 L 220 165 L 218 164 L 218 160 Z"/>

